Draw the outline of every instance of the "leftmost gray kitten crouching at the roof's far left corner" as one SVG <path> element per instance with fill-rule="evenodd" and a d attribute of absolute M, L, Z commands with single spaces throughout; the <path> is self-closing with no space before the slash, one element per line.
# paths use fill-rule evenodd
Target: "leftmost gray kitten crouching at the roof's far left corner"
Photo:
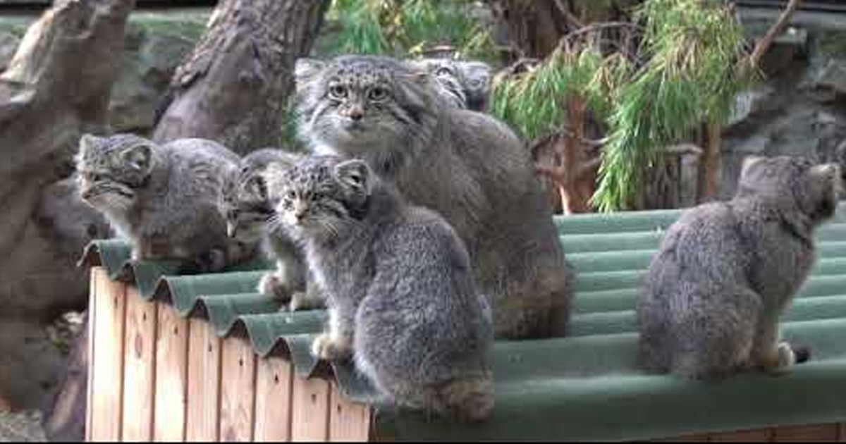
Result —
<path fill-rule="evenodd" d="M 134 260 L 184 260 L 203 272 L 250 255 L 217 211 L 222 178 L 238 162 L 211 140 L 159 145 L 134 134 L 85 134 L 76 157 L 80 197 L 131 241 Z"/>

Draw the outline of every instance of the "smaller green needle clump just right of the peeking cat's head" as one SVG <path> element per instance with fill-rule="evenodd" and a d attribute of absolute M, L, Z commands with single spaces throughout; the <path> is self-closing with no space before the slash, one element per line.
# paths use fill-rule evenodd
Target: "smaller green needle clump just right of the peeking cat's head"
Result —
<path fill-rule="evenodd" d="M 617 54 L 604 57 L 593 49 L 557 50 L 534 71 L 495 85 L 491 112 L 528 139 L 558 131 L 566 123 L 565 103 L 572 96 L 584 98 L 588 110 L 605 120 L 630 69 L 628 61 Z"/>

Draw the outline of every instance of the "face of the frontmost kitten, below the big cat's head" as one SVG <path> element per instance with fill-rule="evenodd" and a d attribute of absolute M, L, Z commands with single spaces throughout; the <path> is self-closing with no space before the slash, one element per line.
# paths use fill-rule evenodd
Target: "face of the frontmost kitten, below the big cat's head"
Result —
<path fill-rule="evenodd" d="M 370 183 L 365 162 L 335 156 L 310 157 L 282 170 L 272 166 L 267 173 L 277 222 L 305 236 L 336 237 L 358 222 Z"/>

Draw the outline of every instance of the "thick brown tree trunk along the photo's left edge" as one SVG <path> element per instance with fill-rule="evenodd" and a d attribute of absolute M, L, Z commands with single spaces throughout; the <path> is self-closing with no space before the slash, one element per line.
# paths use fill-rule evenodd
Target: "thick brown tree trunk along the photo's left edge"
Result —
<path fill-rule="evenodd" d="M 81 246 L 65 254 L 56 221 L 44 217 L 53 210 L 45 196 L 69 173 L 80 134 L 107 124 L 134 5 L 57 0 L 0 75 L 0 392 L 13 408 L 40 407 L 58 380 L 62 359 L 42 323 L 85 304 L 85 280 L 75 267 Z"/>

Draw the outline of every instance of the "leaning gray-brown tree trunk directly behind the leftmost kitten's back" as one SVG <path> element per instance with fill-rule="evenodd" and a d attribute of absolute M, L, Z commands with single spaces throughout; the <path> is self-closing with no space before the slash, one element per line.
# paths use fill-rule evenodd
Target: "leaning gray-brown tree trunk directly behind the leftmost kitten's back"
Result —
<path fill-rule="evenodd" d="M 171 82 L 155 140 L 202 137 L 240 153 L 278 145 L 294 62 L 308 54 L 329 0 L 223 0 Z"/>

